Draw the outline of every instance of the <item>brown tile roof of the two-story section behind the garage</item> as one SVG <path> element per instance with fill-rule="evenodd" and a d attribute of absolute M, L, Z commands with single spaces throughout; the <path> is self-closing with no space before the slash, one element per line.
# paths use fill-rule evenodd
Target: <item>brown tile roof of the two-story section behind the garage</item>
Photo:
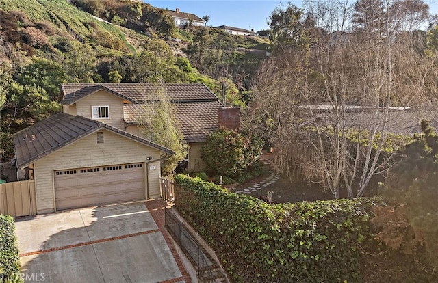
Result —
<path fill-rule="evenodd" d="M 73 96 L 90 94 L 92 92 L 83 89 L 92 87 L 105 87 L 135 101 L 123 108 L 125 122 L 131 125 L 137 124 L 140 105 L 145 100 L 156 100 L 155 93 L 159 90 L 156 83 L 66 83 L 62 85 L 63 101 L 70 102 Z M 165 83 L 164 88 L 175 106 L 186 142 L 205 142 L 207 136 L 218 129 L 218 109 L 222 106 L 218 96 L 203 83 Z"/>

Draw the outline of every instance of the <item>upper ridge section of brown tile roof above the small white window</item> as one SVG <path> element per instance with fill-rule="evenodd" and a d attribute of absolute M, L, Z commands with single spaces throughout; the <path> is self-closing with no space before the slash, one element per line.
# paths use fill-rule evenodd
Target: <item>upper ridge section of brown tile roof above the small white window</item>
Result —
<path fill-rule="evenodd" d="M 61 85 L 64 98 L 61 103 L 69 103 L 77 96 L 91 94 L 90 87 L 105 87 L 106 90 L 136 102 L 155 100 L 155 93 L 159 90 L 157 83 L 64 83 Z M 173 101 L 218 100 L 218 96 L 203 83 L 164 83 L 164 88 Z"/>

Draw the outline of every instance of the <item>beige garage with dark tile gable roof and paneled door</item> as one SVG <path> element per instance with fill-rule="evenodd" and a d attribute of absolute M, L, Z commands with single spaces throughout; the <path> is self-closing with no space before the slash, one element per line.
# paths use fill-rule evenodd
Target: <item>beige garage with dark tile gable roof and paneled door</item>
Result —
<path fill-rule="evenodd" d="M 37 213 L 160 196 L 172 150 L 105 123 L 58 113 L 14 135 L 16 163 L 35 180 Z"/>

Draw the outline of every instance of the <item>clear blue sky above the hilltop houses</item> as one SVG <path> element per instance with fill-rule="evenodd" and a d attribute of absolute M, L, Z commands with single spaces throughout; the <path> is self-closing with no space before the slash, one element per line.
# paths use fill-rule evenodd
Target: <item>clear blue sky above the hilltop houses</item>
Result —
<path fill-rule="evenodd" d="M 302 7 L 303 3 L 302 0 L 144 0 L 144 2 L 173 11 L 179 8 L 181 12 L 195 14 L 200 18 L 207 15 L 210 17 L 207 23 L 209 26 L 228 25 L 248 30 L 254 29 L 254 31 L 269 29 L 266 21 L 281 3 L 287 5 L 287 2 L 290 2 L 297 7 Z M 438 0 L 426 0 L 426 3 L 430 7 L 430 14 L 438 14 Z"/>

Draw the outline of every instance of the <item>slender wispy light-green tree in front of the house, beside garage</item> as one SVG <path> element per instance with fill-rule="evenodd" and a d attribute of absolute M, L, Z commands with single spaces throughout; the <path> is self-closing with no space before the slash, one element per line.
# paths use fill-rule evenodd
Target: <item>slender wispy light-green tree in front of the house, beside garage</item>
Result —
<path fill-rule="evenodd" d="M 175 152 L 162 156 L 162 174 L 172 176 L 178 163 L 187 157 L 188 146 L 164 84 L 158 84 L 152 93 L 144 92 L 138 127 L 146 139 Z"/>

